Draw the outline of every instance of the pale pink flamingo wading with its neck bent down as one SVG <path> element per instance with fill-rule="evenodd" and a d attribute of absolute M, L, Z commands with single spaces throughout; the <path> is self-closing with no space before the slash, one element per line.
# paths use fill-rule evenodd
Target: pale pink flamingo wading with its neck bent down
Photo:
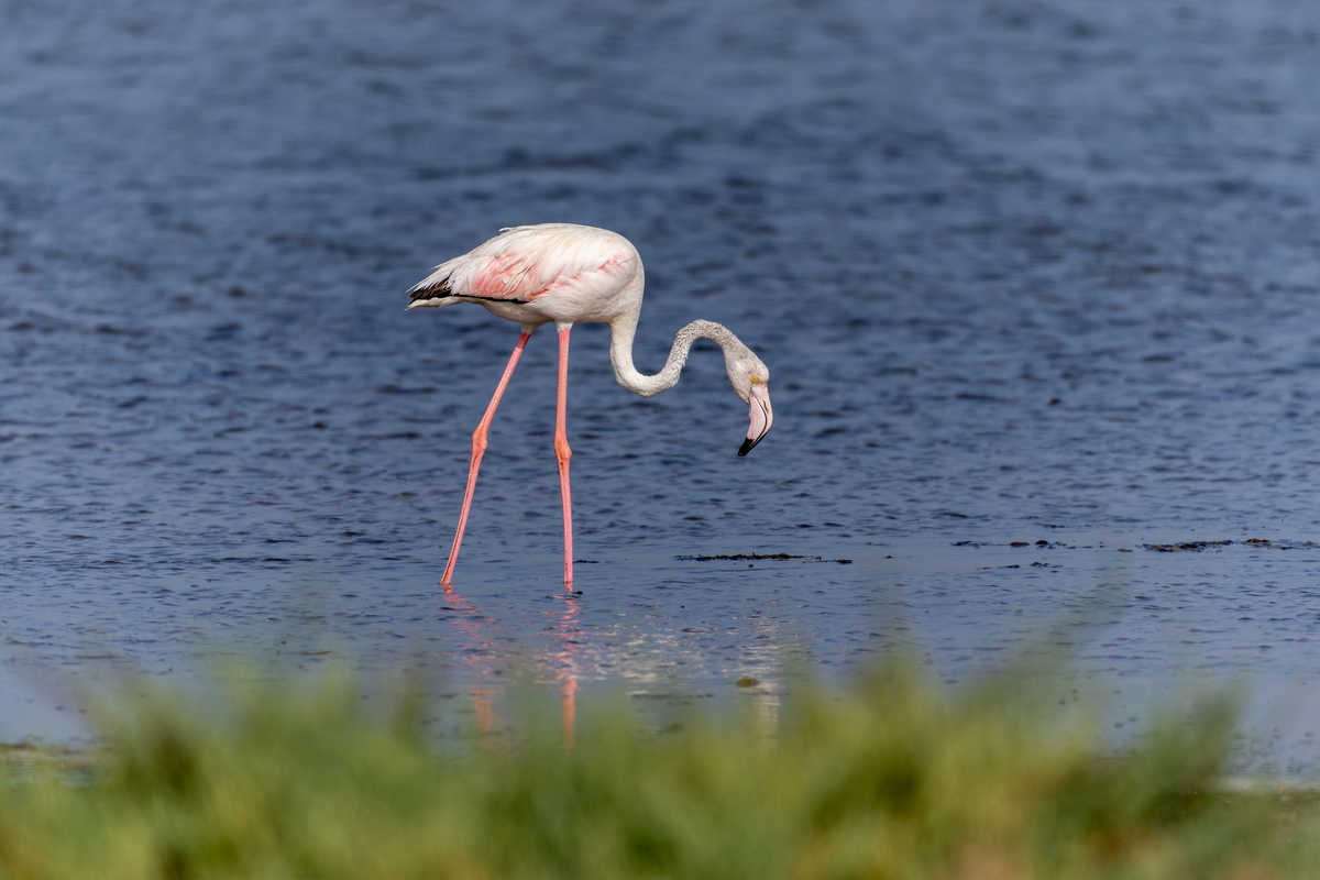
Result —
<path fill-rule="evenodd" d="M 673 339 L 669 358 L 655 375 L 632 365 L 632 336 L 638 329 L 643 292 L 642 257 L 626 237 L 610 230 L 573 223 L 540 223 L 500 230 L 495 237 L 453 260 L 436 267 L 409 290 L 409 309 L 451 306 L 475 302 L 491 314 L 521 326 L 521 335 L 504 364 L 486 413 L 473 431 L 473 454 L 467 464 L 467 487 L 458 528 L 449 549 L 441 584 L 454 577 L 458 548 L 463 542 L 467 515 L 473 507 L 477 472 L 486 453 L 486 435 L 500 397 L 508 387 L 523 348 L 532 332 L 554 322 L 560 334 L 558 393 L 554 412 L 554 458 L 560 468 L 560 499 L 564 505 L 564 586 L 573 588 L 573 512 L 569 492 L 569 449 L 565 430 L 568 391 L 569 331 L 576 323 L 610 325 L 610 363 L 614 377 L 635 394 L 651 397 L 673 388 L 697 339 L 711 339 L 725 354 L 729 381 L 748 405 L 747 437 L 738 449 L 746 455 L 770 431 L 770 369 L 751 348 L 727 327 L 713 321 L 693 321 Z"/>

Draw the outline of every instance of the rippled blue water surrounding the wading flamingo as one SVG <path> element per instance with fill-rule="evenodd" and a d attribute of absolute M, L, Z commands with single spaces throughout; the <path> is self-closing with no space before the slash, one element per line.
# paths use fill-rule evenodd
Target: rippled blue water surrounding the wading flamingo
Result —
<path fill-rule="evenodd" d="M 5 3 L 0 736 L 236 656 L 772 707 L 785 652 L 1035 640 L 1119 726 L 1204 676 L 1304 705 L 1317 82 L 1287 0 Z M 403 290 L 546 220 L 642 251 L 643 369 L 733 327 L 776 429 L 735 458 L 713 351 L 642 400 L 579 329 L 565 599 L 543 331 L 446 595 L 516 327 Z M 1150 549 L 1192 541 L 1233 544 Z M 1247 751 L 1313 769 L 1316 724 Z"/>

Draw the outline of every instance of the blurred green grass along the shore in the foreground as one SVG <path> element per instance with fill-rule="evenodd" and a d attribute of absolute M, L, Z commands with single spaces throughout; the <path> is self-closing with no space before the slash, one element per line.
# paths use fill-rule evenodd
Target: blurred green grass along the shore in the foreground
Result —
<path fill-rule="evenodd" d="M 424 695 L 343 681 L 157 694 L 86 765 L 0 759 L 0 877 L 1320 876 L 1315 798 L 1220 792 L 1232 701 L 1113 755 L 1008 676 L 801 690 L 771 730 L 587 706 L 570 748 L 535 714 L 436 747 Z"/>

